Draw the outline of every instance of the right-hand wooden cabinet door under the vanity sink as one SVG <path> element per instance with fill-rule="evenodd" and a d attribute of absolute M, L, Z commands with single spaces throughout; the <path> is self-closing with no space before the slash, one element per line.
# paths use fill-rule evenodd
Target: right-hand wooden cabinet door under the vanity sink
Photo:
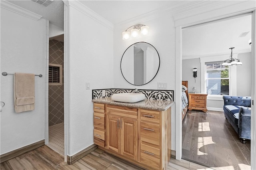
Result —
<path fill-rule="evenodd" d="M 138 121 L 122 118 L 121 154 L 131 159 L 138 159 Z"/>

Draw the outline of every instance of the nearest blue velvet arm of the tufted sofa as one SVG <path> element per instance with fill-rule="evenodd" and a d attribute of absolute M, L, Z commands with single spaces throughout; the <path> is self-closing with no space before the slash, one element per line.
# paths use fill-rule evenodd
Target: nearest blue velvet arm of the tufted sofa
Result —
<path fill-rule="evenodd" d="M 239 109 L 239 137 L 251 139 L 251 108 L 241 106 Z"/>

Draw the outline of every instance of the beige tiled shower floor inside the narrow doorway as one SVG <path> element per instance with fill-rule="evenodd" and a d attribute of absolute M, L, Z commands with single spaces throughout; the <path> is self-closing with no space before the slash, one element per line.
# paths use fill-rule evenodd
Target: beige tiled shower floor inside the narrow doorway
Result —
<path fill-rule="evenodd" d="M 49 127 L 49 143 L 47 146 L 64 156 L 64 123 Z"/>

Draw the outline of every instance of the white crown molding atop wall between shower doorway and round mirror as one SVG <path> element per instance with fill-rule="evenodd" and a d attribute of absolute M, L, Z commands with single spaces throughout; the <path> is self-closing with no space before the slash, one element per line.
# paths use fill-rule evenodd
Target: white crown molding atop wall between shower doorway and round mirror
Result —
<path fill-rule="evenodd" d="M 69 0 L 68 3 L 65 3 L 65 4 L 82 12 L 83 14 L 92 18 L 93 20 L 97 21 L 103 26 L 106 26 L 111 31 L 114 30 L 114 24 L 112 24 L 111 22 L 109 22 L 108 20 L 106 20 L 105 18 L 103 18 L 102 16 L 100 16 L 99 14 L 97 14 L 96 12 L 94 12 L 93 10 L 91 10 L 90 8 L 88 8 L 78 0 Z"/>

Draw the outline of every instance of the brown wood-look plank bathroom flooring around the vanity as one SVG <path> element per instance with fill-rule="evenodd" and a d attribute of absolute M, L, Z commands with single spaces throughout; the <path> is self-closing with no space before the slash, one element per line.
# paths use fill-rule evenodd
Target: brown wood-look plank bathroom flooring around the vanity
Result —
<path fill-rule="evenodd" d="M 142 170 L 142 168 L 112 156 L 97 148 L 72 165 L 48 146 L 27 152 L 1 163 L 1 170 Z M 167 170 L 211 170 L 186 160 L 172 158 Z"/>

